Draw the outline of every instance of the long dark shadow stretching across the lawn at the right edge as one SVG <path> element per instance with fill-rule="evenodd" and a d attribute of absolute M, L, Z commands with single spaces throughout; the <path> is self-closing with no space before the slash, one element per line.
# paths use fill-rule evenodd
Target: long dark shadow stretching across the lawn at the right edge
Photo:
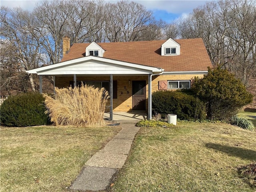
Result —
<path fill-rule="evenodd" d="M 230 156 L 236 156 L 236 157 L 240 157 L 242 159 L 247 159 L 247 160 L 251 160 L 251 161 L 256 160 L 256 151 L 255 150 L 220 145 L 220 144 L 216 144 L 216 143 L 206 143 L 205 146 L 210 149 L 224 152 Z"/>

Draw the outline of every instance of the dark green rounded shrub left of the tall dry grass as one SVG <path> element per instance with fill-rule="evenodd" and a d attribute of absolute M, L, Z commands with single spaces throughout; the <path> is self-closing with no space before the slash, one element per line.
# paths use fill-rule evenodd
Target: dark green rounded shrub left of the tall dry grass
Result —
<path fill-rule="evenodd" d="M 40 93 L 9 96 L 1 107 L 1 123 L 5 126 L 36 126 L 49 123 L 44 98 Z"/>

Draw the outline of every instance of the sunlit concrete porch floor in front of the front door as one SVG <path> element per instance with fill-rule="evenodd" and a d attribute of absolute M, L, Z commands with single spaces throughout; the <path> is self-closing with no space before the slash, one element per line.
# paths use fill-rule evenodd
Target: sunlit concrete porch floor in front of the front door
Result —
<path fill-rule="evenodd" d="M 104 118 L 110 120 L 110 113 L 104 113 Z M 113 112 L 113 122 L 136 123 L 146 119 L 146 112 Z"/>

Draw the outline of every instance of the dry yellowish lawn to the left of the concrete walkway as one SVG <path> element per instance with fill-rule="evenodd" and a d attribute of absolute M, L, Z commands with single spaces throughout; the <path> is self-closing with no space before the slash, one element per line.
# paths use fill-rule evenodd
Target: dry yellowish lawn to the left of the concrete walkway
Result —
<path fill-rule="evenodd" d="M 0 191 L 65 192 L 120 126 L 0 128 Z"/>

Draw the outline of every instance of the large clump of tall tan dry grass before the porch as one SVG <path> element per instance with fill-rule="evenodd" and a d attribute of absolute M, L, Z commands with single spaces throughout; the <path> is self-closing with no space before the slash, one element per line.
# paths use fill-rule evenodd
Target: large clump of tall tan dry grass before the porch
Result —
<path fill-rule="evenodd" d="M 104 88 L 82 85 L 55 88 L 55 96 L 43 94 L 51 121 L 55 125 L 104 126 L 108 92 Z"/>

